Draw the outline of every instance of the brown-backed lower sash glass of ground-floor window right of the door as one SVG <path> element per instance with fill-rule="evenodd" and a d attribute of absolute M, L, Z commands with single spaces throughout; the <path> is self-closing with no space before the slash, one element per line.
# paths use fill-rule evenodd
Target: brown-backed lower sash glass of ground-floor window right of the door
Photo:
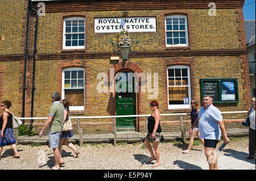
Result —
<path fill-rule="evenodd" d="M 183 98 L 188 98 L 188 87 L 169 87 L 169 104 L 184 104 Z"/>

